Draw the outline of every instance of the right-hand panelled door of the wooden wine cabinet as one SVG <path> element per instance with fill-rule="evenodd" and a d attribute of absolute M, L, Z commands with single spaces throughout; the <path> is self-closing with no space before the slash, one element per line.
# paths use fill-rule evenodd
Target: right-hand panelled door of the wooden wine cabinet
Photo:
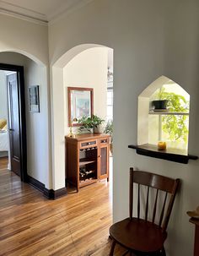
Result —
<path fill-rule="evenodd" d="M 100 144 L 100 179 L 109 179 L 109 144 Z"/>

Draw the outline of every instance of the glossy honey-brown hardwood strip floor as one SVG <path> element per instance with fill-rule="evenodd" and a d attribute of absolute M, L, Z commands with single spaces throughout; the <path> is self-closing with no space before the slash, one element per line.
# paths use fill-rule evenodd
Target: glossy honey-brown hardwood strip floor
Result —
<path fill-rule="evenodd" d="M 48 200 L 12 172 L 0 172 L 0 255 L 109 255 L 111 218 L 106 182 Z"/>

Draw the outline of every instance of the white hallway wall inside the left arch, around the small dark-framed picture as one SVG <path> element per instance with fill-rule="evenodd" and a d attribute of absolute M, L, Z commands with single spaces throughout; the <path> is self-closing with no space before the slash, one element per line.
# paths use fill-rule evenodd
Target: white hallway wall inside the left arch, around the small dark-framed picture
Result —
<path fill-rule="evenodd" d="M 44 183 L 46 188 L 51 188 L 46 68 L 14 52 L 0 52 L 0 63 L 24 66 L 27 171 L 31 177 Z M 40 86 L 39 113 L 29 112 L 28 89 L 30 85 Z"/>

